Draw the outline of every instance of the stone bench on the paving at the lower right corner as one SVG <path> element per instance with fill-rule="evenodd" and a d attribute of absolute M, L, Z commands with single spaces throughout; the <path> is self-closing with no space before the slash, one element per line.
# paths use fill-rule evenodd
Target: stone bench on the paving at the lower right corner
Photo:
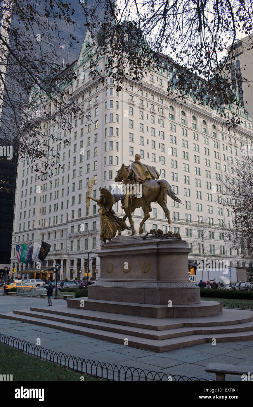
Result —
<path fill-rule="evenodd" d="M 253 374 L 253 366 L 243 366 L 243 365 L 225 365 L 223 363 L 209 363 L 205 368 L 205 372 L 215 373 L 216 380 L 222 381 L 225 380 L 226 374 L 236 374 L 242 376 L 246 374 L 248 377 Z M 250 380 L 250 379 L 246 379 Z"/>

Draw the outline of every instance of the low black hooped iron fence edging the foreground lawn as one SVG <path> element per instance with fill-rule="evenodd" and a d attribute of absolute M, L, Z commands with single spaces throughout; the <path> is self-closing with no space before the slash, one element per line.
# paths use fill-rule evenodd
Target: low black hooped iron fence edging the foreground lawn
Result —
<path fill-rule="evenodd" d="M 115 365 L 114 363 L 83 359 L 41 348 L 41 346 L 31 344 L 30 342 L 9 335 L 0 334 L 0 342 L 12 346 L 13 348 L 23 350 L 24 352 L 39 357 L 45 361 L 55 363 L 58 366 L 75 370 L 76 372 L 80 372 L 80 374 L 89 374 L 98 379 L 115 381 L 213 381 L 212 379 L 198 379 L 197 377 L 154 372 L 128 366 Z"/>

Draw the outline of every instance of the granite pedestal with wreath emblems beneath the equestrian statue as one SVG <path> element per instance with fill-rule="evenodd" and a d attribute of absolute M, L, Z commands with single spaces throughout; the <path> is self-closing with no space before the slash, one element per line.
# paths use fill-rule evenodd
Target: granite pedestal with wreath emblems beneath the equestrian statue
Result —
<path fill-rule="evenodd" d="M 85 308 L 154 318 L 216 315 L 221 306 L 201 302 L 189 281 L 189 252 L 181 239 L 117 236 L 101 246 L 100 278 L 89 286 Z"/>

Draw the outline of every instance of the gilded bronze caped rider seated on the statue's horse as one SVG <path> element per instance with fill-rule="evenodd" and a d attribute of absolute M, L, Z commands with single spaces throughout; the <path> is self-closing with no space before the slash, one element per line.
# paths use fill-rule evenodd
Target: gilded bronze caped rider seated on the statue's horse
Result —
<path fill-rule="evenodd" d="M 130 171 L 128 174 L 129 184 L 143 184 L 144 182 L 150 181 L 150 179 L 158 179 L 160 174 L 155 168 L 143 164 L 140 162 L 141 155 L 135 154 L 134 162 L 130 164 Z M 125 203 L 121 206 L 122 209 L 127 209 L 129 207 L 130 193 L 125 195 Z"/>

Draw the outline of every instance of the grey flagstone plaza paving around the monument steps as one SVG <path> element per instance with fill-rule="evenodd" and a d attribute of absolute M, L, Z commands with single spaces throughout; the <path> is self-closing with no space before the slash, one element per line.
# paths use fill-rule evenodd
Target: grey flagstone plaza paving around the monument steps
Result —
<path fill-rule="evenodd" d="M 56 302 L 56 300 L 54 301 Z M 28 309 L 30 306 L 43 307 L 46 303 L 47 300 L 45 299 L 9 297 L 2 296 L 0 293 L 2 312 L 11 312 L 13 309 Z M 65 300 L 58 300 L 57 305 L 59 304 L 67 307 Z M 215 379 L 215 374 L 205 372 L 205 366 L 208 363 L 238 365 L 252 365 L 253 363 L 253 341 L 217 343 L 216 346 L 208 343 L 155 353 L 4 318 L 0 318 L 0 333 L 20 338 L 32 344 L 36 344 L 39 338 L 43 348 L 58 353 L 63 352 L 99 362 L 204 379 Z M 226 375 L 226 380 L 237 381 L 241 378 L 240 376 Z"/>

